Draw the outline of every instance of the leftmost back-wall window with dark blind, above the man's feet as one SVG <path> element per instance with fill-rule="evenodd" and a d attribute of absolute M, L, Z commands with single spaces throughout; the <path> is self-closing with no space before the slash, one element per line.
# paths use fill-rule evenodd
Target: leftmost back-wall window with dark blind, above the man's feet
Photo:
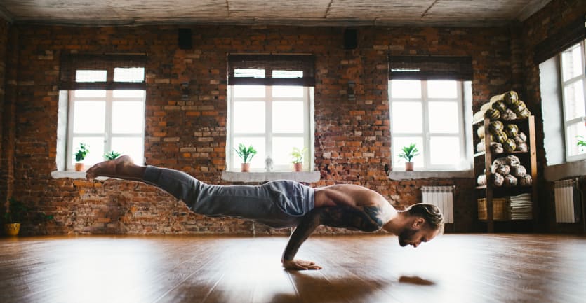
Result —
<path fill-rule="evenodd" d="M 89 149 L 86 165 L 109 152 L 144 163 L 144 66 L 145 57 L 136 55 L 62 57 L 58 170 L 74 168 L 80 143 Z"/>

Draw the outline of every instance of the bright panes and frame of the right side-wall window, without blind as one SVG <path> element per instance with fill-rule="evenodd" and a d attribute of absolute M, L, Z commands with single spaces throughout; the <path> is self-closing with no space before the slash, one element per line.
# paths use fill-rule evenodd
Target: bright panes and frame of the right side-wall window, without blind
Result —
<path fill-rule="evenodd" d="M 586 140 L 585 41 L 564 50 L 559 57 L 566 160 L 582 160 L 586 159 L 586 147 L 578 146 L 578 140 Z"/>

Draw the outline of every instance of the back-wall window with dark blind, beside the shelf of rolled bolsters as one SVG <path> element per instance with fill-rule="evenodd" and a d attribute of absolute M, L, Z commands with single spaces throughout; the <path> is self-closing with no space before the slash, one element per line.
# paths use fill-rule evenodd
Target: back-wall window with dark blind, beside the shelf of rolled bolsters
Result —
<path fill-rule="evenodd" d="M 444 56 L 389 56 L 391 147 L 394 171 L 404 169 L 399 157 L 415 143 L 415 170 L 470 169 L 472 59 Z"/>

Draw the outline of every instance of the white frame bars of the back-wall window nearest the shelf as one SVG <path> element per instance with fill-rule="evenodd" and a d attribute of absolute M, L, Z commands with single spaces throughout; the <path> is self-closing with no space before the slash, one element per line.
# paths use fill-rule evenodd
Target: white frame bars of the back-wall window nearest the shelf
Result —
<path fill-rule="evenodd" d="M 400 134 L 396 134 L 394 133 L 393 129 L 391 128 L 391 146 L 394 147 L 395 146 L 395 141 L 397 138 L 401 138 L 401 137 L 413 137 L 413 136 L 419 136 L 422 137 L 422 141 L 423 141 L 423 146 L 421 148 L 418 148 L 418 150 L 420 151 L 420 153 L 423 153 L 423 165 L 422 166 L 418 166 L 415 169 L 416 170 L 422 170 L 422 171 L 458 171 L 458 170 L 462 170 L 462 164 L 461 163 L 455 163 L 454 165 L 432 165 L 431 164 L 431 153 L 429 153 L 430 150 L 430 141 L 431 141 L 431 137 L 432 136 L 449 136 L 449 137 L 453 137 L 453 136 L 458 136 L 458 141 L 460 143 L 460 159 L 462 160 L 466 160 L 467 161 L 467 152 L 466 152 L 466 143 L 465 143 L 465 136 L 466 136 L 466 132 L 465 132 L 465 112 L 464 112 L 464 96 L 463 96 L 463 92 L 465 91 L 465 87 L 464 87 L 464 81 L 461 80 L 455 80 L 455 82 L 457 83 L 457 89 L 458 89 L 458 96 L 454 99 L 454 98 L 429 98 L 427 97 L 427 80 L 420 80 L 421 81 L 421 97 L 420 98 L 392 98 L 392 80 L 389 80 L 389 100 L 390 100 L 390 106 L 389 106 L 389 112 L 390 112 L 390 118 L 391 118 L 391 127 L 392 127 L 392 104 L 394 101 L 401 101 L 401 102 L 421 102 L 422 104 L 422 133 L 400 133 Z M 457 101 L 458 103 L 458 118 L 460 119 L 458 121 L 458 134 L 452 133 L 452 134 L 446 134 L 446 133 L 432 133 L 429 132 L 429 119 L 427 117 L 429 117 L 429 101 Z M 398 157 L 398 155 L 394 155 L 393 154 L 393 150 L 394 148 L 392 148 L 392 153 L 391 153 L 391 159 L 392 159 L 392 163 L 396 164 L 396 162 L 394 161 L 396 159 L 396 157 Z M 417 163 L 415 163 L 417 164 Z M 470 169 L 469 167 L 465 167 L 465 169 Z M 397 165 L 393 165 L 393 171 L 404 171 L 404 167 L 397 167 Z"/>

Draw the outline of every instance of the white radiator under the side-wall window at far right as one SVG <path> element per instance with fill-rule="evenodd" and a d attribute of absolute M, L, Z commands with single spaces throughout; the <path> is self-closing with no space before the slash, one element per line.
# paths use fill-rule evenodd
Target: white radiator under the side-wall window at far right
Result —
<path fill-rule="evenodd" d="M 554 185 L 556 222 L 575 223 L 577 222 L 578 210 L 576 204 L 580 202 L 578 192 L 574 190 L 573 180 L 556 181 Z"/>

